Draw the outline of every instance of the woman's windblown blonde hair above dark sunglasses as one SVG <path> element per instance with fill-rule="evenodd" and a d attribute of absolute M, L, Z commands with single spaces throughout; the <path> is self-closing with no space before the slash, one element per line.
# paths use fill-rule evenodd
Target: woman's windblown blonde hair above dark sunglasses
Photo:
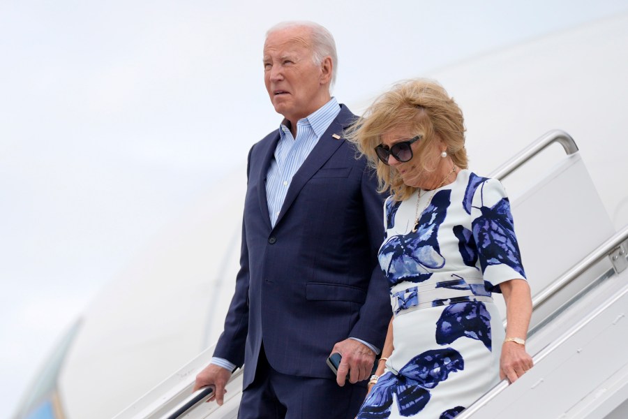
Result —
<path fill-rule="evenodd" d="M 382 143 L 382 134 L 400 127 L 407 127 L 412 136 L 423 135 L 415 143 L 418 147 L 414 151 L 423 170 L 434 170 L 426 167 L 426 156 L 433 149 L 431 144 L 439 140 L 447 146 L 447 154 L 454 164 L 467 168 L 464 118 L 454 99 L 434 80 L 405 80 L 375 99 L 345 133 L 345 138 L 353 142 L 377 170 L 380 192 L 389 189 L 395 200 L 405 200 L 417 190 L 404 184 L 398 172 L 382 163 L 375 154 L 375 146 Z"/>

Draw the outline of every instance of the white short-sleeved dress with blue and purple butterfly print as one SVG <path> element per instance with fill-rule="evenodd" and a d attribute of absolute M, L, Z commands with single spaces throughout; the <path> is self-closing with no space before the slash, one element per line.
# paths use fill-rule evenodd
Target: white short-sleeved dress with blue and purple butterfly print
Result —
<path fill-rule="evenodd" d="M 461 170 L 412 233 L 417 193 L 384 204 L 394 351 L 359 419 L 454 418 L 499 382 L 504 327 L 491 292 L 525 279 L 504 188 Z"/>

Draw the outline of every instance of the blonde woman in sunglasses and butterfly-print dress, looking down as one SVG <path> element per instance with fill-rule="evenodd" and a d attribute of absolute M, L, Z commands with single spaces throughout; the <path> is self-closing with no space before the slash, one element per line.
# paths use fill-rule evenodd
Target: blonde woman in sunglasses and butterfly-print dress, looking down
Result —
<path fill-rule="evenodd" d="M 385 365 L 357 418 L 453 418 L 532 367 L 532 302 L 509 200 L 498 180 L 468 170 L 464 131 L 460 108 L 431 80 L 397 84 L 350 129 L 391 191 L 378 256 L 393 316 Z"/>

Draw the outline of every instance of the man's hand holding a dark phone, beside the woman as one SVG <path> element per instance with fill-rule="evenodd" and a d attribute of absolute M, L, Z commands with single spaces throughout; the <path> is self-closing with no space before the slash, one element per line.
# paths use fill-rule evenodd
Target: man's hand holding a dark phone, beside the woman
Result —
<path fill-rule="evenodd" d="M 336 374 L 336 383 L 341 387 L 345 385 L 347 373 L 349 374 L 349 382 L 352 384 L 366 380 L 371 376 L 375 353 L 365 344 L 355 339 L 345 339 L 334 345 L 331 353 L 334 352 L 343 356 L 338 366 L 338 374 Z"/>

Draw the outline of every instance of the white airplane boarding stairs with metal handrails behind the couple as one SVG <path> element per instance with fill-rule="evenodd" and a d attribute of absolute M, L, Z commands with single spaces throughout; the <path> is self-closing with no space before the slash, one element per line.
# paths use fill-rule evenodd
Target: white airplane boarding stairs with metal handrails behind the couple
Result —
<path fill-rule="evenodd" d="M 456 418 L 628 418 L 628 226 L 615 233 L 578 147 L 550 131 L 495 170 L 513 174 L 558 143 L 567 156 L 510 194 L 518 242 L 532 288 L 526 348 L 534 367 L 502 381 Z M 503 301 L 496 300 L 504 309 Z M 207 348 L 114 419 L 237 418 L 242 369 L 227 383 L 225 403 L 192 392 L 211 359 Z"/>

